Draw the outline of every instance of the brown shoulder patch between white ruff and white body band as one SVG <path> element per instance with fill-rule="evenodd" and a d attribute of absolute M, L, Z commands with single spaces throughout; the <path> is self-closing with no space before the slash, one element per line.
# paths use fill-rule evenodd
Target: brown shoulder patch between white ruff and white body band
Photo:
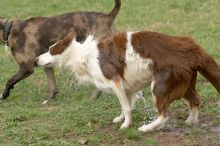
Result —
<path fill-rule="evenodd" d="M 114 37 L 105 39 L 98 44 L 99 65 L 103 75 L 107 79 L 115 80 L 124 76 L 126 33 L 120 33 Z"/>

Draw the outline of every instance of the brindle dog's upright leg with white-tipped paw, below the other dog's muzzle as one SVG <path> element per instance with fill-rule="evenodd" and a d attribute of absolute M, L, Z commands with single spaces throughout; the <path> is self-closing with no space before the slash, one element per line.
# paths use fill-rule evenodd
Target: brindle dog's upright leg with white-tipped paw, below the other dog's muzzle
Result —
<path fill-rule="evenodd" d="M 50 94 L 49 94 L 48 100 L 45 100 L 44 102 L 42 102 L 42 104 L 47 104 L 49 100 L 55 98 L 58 91 L 57 91 L 56 79 L 54 75 L 54 69 L 52 67 L 48 67 L 48 68 L 44 68 L 44 71 L 47 75 L 48 85 L 50 88 Z"/>

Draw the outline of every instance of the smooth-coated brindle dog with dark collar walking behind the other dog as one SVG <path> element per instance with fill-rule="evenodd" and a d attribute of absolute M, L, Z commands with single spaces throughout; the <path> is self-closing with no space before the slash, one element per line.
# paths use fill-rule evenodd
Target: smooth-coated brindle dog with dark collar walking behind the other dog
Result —
<path fill-rule="evenodd" d="M 96 12 L 73 12 L 52 17 L 35 17 L 24 21 L 0 18 L 0 43 L 5 42 L 19 64 L 19 71 L 8 80 L 0 98 L 9 96 L 10 90 L 19 81 L 34 72 L 35 58 L 48 51 L 49 46 L 62 39 L 70 31 L 83 40 L 90 33 L 104 38 L 115 32 L 113 23 L 120 10 L 121 0 L 109 14 Z M 45 68 L 50 87 L 49 99 L 55 97 L 57 87 L 53 68 Z M 47 100 L 44 102 L 46 103 Z"/>

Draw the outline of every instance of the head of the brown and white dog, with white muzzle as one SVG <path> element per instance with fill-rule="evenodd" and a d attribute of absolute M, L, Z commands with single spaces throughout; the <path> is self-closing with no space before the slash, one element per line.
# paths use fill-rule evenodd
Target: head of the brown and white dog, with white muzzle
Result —
<path fill-rule="evenodd" d="M 54 45 L 50 46 L 49 51 L 40 55 L 36 59 L 36 63 L 43 67 L 53 67 L 59 64 L 61 61 L 65 50 L 75 39 L 75 33 L 70 32 L 66 37 L 56 42 Z"/>

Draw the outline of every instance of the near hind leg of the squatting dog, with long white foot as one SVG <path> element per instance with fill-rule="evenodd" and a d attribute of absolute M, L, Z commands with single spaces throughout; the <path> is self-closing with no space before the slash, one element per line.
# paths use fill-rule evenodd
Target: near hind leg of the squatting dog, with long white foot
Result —
<path fill-rule="evenodd" d="M 172 70 L 167 69 L 156 74 L 151 83 L 151 90 L 159 117 L 152 123 L 141 126 L 138 130 L 149 132 L 161 128 L 169 119 L 168 108 L 170 104 L 183 97 L 188 85 L 188 81 L 175 79 Z"/>

